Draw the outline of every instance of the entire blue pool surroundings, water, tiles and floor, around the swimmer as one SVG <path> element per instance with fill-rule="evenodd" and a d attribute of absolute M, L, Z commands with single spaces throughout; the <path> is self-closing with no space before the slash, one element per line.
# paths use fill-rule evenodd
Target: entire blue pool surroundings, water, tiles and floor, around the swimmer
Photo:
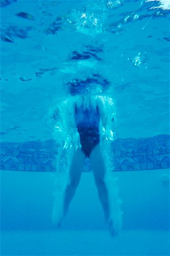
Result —
<path fill-rule="evenodd" d="M 169 255 L 169 10 L 166 0 L 1 0 L 1 255 Z M 51 222 L 46 117 L 70 81 L 94 74 L 116 110 L 117 238 L 89 169 L 62 229 Z"/>

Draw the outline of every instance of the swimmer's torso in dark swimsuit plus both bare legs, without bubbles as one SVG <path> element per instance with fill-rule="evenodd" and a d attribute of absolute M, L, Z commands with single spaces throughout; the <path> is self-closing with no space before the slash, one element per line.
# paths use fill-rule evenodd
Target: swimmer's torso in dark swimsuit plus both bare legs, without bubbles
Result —
<path fill-rule="evenodd" d="M 81 148 L 77 148 L 70 168 L 70 185 L 66 188 L 64 214 L 67 213 L 71 199 L 78 187 L 83 170 L 84 160 L 90 159 L 92 171 L 94 172 L 99 199 L 103 205 L 105 220 L 109 218 L 108 191 L 104 183 L 105 167 L 100 148 L 99 122 L 100 112 L 98 106 L 91 105 L 78 108 L 75 104 L 75 122 L 80 135 Z"/>

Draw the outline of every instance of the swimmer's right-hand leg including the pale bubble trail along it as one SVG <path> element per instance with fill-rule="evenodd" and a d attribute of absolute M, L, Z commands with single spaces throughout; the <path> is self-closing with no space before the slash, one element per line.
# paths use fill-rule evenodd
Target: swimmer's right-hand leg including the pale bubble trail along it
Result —
<path fill-rule="evenodd" d="M 106 173 L 99 144 L 91 152 L 90 162 L 94 171 L 99 199 L 104 209 L 105 220 L 109 225 L 109 232 L 112 236 L 116 236 L 122 227 L 121 201 L 118 198 L 116 179 L 112 174 Z"/>

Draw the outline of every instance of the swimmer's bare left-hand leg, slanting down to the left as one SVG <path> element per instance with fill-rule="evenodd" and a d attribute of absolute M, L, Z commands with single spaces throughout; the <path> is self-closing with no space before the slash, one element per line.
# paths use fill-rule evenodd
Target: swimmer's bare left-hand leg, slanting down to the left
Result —
<path fill-rule="evenodd" d="M 83 151 L 80 150 L 80 148 L 78 148 L 78 150 L 75 151 L 75 154 L 73 156 L 73 162 L 71 163 L 70 167 L 70 184 L 67 185 L 65 190 L 63 207 L 64 216 L 67 214 L 69 210 L 69 205 L 75 195 L 76 188 L 78 187 L 85 159 L 86 156 L 84 155 Z"/>

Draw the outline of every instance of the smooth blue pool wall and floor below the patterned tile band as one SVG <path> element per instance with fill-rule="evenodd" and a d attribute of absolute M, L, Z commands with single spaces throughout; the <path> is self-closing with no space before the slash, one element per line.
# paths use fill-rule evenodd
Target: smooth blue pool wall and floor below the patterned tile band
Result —
<path fill-rule="evenodd" d="M 169 170 L 118 172 L 123 229 L 111 237 L 92 173 L 83 173 L 61 229 L 54 175 L 3 171 L 1 255 L 169 255 Z"/>

